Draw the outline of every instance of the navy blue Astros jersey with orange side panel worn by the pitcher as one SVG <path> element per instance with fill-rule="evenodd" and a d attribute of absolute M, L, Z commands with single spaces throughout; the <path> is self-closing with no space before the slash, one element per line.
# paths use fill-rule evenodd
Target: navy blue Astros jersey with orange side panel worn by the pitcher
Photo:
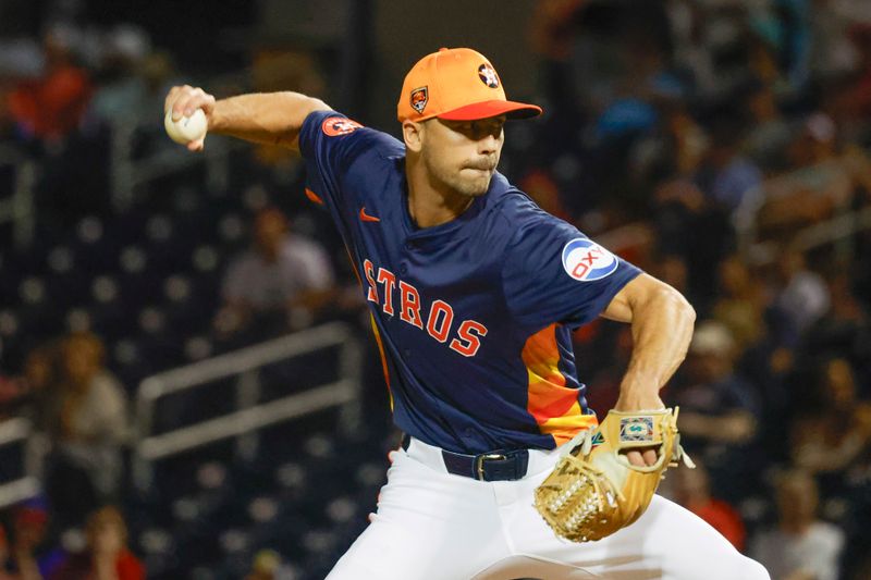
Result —
<path fill-rule="evenodd" d="M 417 227 L 404 145 L 334 111 L 308 115 L 299 148 L 360 276 L 400 429 L 477 454 L 550 449 L 596 423 L 571 331 L 637 268 L 499 173 L 462 215 Z"/>

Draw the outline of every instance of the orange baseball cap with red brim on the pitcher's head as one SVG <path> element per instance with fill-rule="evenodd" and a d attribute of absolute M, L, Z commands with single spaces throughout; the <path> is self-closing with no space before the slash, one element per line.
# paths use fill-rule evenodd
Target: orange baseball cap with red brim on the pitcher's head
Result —
<path fill-rule="evenodd" d="M 441 48 L 417 61 L 405 75 L 396 104 L 400 122 L 433 116 L 475 121 L 501 114 L 528 119 L 540 115 L 541 107 L 507 100 L 493 65 L 470 48 Z"/>

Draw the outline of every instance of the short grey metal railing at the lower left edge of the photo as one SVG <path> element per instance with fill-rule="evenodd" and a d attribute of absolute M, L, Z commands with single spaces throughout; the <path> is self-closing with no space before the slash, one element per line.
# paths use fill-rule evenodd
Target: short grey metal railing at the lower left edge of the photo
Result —
<path fill-rule="evenodd" d="M 24 418 L 0 422 L 0 447 L 19 445 L 23 448 L 24 465 L 21 477 L 0 482 L 0 507 L 17 504 L 37 495 L 42 486 L 42 457 L 46 442 L 33 431 Z"/>

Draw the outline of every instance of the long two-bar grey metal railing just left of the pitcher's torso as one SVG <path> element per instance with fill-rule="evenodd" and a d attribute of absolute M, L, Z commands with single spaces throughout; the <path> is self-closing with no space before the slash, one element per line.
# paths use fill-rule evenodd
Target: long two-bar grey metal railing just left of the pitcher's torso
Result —
<path fill-rule="evenodd" d="M 327 384 L 257 403 L 259 372 L 270 363 L 339 347 L 338 378 Z M 133 481 L 147 490 L 154 462 L 212 442 L 236 437 L 236 453 L 252 456 L 257 449 L 256 431 L 265 427 L 340 407 L 340 425 L 352 432 L 360 420 L 361 348 L 349 326 L 333 322 L 275 338 L 256 346 L 161 372 L 145 379 L 136 396 L 137 436 L 133 449 Z M 170 395 L 236 377 L 235 410 L 230 414 L 152 433 L 157 403 Z"/>

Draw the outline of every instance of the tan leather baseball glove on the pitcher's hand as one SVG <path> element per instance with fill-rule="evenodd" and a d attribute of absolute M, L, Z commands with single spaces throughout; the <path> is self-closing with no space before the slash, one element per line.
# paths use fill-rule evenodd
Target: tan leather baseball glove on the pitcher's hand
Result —
<path fill-rule="evenodd" d="M 663 473 L 683 458 L 677 409 L 621 412 L 612 410 L 592 431 L 566 447 L 553 471 L 536 489 L 536 509 L 557 535 L 573 542 L 601 540 L 645 513 Z M 652 446 L 652 466 L 629 464 L 626 448 Z"/>

